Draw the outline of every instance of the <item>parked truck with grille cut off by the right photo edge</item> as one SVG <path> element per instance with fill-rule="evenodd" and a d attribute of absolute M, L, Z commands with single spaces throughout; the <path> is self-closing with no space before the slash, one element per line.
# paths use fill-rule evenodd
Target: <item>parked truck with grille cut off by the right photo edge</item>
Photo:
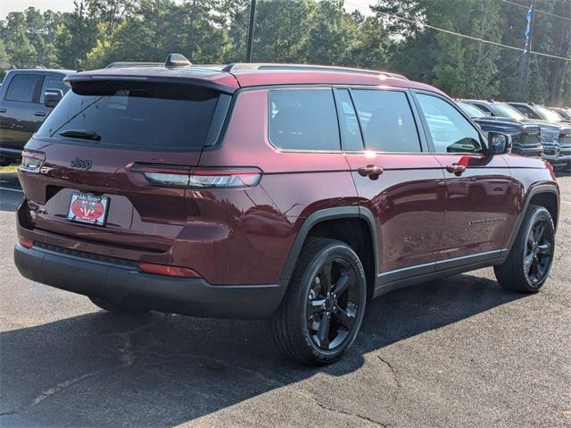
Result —
<path fill-rule="evenodd" d="M 543 159 L 554 165 L 571 166 L 571 126 L 543 119 L 530 119 L 509 103 L 501 103 L 492 99 L 467 99 L 463 101 L 476 105 L 476 107 L 492 117 L 509 117 L 517 122 L 539 126 L 541 129 Z"/>

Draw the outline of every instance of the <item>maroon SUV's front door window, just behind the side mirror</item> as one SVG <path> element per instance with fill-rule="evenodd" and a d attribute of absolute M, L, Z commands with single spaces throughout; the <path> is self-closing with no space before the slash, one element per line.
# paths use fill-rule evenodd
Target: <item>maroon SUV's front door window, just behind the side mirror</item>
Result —
<path fill-rule="evenodd" d="M 417 97 L 436 153 L 482 153 L 480 134 L 456 108 L 439 97 Z"/>

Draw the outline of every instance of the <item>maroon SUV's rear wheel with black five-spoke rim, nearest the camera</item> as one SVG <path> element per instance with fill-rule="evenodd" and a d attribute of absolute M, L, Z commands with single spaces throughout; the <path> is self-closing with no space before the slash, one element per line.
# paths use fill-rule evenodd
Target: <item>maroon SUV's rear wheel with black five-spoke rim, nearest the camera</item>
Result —
<path fill-rule="evenodd" d="M 365 271 L 352 248 L 335 239 L 308 239 L 284 300 L 269 321 L 272 337 L 294 361 L 333 363 L 355 340 L 366 302 Z"/>

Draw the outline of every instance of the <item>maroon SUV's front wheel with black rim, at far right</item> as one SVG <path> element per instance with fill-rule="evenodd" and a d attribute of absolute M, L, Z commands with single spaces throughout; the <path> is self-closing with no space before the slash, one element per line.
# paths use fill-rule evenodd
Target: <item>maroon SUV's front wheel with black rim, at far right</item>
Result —
<path fill-rule="evenodd" d="M 530 205 L 507 260 L 494 266 L 501 287 L 536 293 L 547 281 L 555 250 L 555 226 L 544 206 Z"/>

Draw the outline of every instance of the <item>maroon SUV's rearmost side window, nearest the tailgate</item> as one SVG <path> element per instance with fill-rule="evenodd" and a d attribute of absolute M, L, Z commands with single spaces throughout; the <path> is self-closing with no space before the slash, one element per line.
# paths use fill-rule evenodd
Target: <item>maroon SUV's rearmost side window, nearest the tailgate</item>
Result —
<path fill-rule="evenodd" d="M 269 91 L 269 140 L 287 150 L 340 150 L 332 90 Z"/>

